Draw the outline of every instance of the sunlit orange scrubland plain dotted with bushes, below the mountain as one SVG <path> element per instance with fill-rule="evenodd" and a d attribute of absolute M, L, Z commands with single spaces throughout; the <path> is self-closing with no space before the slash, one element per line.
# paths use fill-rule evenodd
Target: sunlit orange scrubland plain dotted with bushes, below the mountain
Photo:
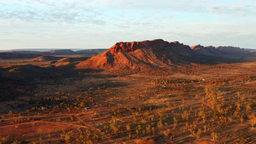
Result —
<path fill-rule="evenodd" d="M 256 62 L 184 71 L 33 81 L 0 102 L 0 143 L 255 143 Z"/>

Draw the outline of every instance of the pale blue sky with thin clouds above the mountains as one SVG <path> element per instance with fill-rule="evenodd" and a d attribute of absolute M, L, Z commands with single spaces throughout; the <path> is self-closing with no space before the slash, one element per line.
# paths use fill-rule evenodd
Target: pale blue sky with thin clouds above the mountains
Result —
<path fill-rule="evenodd" d="M 0 50 L 153 39 L 256 49 L 256 0 L 0 0 Z"/>

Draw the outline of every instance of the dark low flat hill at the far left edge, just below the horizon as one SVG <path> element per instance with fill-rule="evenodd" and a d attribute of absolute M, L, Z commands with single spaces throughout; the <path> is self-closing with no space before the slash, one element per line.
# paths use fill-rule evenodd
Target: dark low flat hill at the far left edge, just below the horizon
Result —
<path fill-rule="evenodd" d="M 0 52 L 0 59 L 21 59 L 21 58 L 36 58 L 42 55 L 34 53 L 11 53 L 11 52 Z"/>

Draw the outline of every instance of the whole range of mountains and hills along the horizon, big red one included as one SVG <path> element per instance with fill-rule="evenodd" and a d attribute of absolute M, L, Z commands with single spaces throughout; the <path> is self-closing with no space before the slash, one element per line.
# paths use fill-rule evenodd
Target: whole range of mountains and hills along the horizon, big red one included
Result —
<path fill-rule="evenodd" d="M 119 65 L 121 68 L 134 69 L 143 64 L 145 67 L 152 67 L 152 65 L 154 67 L 166 67 L 174 63 L 222 62 L 224 61 L 223 58 L 228 59 L 234 56 L 253 54 L 256 54 L 254 49 L 241 49 L 232 46 L 205 47 L 201 45 L 190 47 L 180 44 L 178 41 L 169 43 L 157 39 L 133 41 L 131 43 L 120 42 L 110 47 L 110 49 L 15 49 L 0 52 L 0 59 L 38 57 L 35 61 L 45 61 L 44 59 L 54 60 L 54 58 L 40 56 L 87 55 L 94 57 L 78 64 L 77 67 L 109 69 L 110 67 L 117 68 L 117 65 Z"/>

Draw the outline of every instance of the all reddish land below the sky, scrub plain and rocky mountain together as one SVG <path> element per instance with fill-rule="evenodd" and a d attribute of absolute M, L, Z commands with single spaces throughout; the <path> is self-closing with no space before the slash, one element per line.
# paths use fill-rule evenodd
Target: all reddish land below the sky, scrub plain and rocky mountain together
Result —
<path fill-rule="evenodd" d="M 255 53 L 153 40 L 94 55 L 2 59 L 0 143 L 256 142 Z"/>

